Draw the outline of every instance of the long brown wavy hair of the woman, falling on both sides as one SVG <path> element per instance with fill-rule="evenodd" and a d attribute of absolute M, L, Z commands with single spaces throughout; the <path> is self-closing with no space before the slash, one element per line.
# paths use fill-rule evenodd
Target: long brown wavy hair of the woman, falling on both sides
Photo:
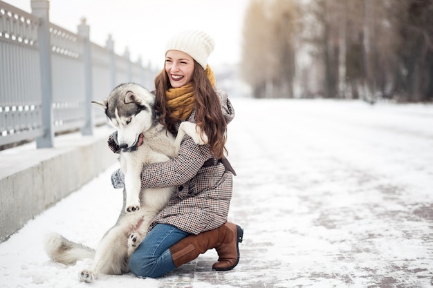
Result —
<path fill-rule="evenodd" d="M 196 124 L 201 131 L 208 136 L 208 146 L 210 153 L 216 158 L 221 159 L 227 140 L 227 122 L 221 111 L 221 100 L 216 94 L 212 84 L 206 76 L 205 70 L 194 60 L 194 73 L 192 75 L 192 85 L 194 86 L 194 110 L 196 112 Z M 170 116 L 167 106 L 165 92 L 172 88 L 165 68 L 155 77 L 156 88 L 156 109 L 161 113 L 159 122 L 163 124 L 167 131 L 176 133 L 174 126 L 180 119 Z"/>

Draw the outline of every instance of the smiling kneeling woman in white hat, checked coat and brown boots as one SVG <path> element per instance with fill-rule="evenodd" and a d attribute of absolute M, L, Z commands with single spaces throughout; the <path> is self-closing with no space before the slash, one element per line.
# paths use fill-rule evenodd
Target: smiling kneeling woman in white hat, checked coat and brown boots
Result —
<path fill-rule="evenodd" d="M 176 135 L 182 121 L 196 123 L 208 136 L 208 145 L 185 136 L 174 159 L 142 169 L 142 188 L 177 189 L 129 261 L 129 269 L 139 277 L 158 278 L 213 248 L 219 260 L 212 269 L 230 270 L 239 262 L 243 229 L 227 222 L 234 171 L 224 157 L 234 111 L 227 94 L 215 88 L 207 64 L 212 50 L 214 41 L 204 32 L 175 35 L 155 79 L 157 109 L 167 131 Z M 112 137 L 109 145 L 118 150 Z"/>

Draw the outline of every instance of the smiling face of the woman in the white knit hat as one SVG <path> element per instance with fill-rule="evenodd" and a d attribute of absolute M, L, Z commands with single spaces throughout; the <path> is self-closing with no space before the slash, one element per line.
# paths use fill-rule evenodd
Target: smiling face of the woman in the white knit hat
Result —
<path fill-rule="evenodd" d="M 190 83 L 194 73 L 194 59 L 179 50 L 168 50 L 165 55 L 165 73 L 173 88 Z"/>

